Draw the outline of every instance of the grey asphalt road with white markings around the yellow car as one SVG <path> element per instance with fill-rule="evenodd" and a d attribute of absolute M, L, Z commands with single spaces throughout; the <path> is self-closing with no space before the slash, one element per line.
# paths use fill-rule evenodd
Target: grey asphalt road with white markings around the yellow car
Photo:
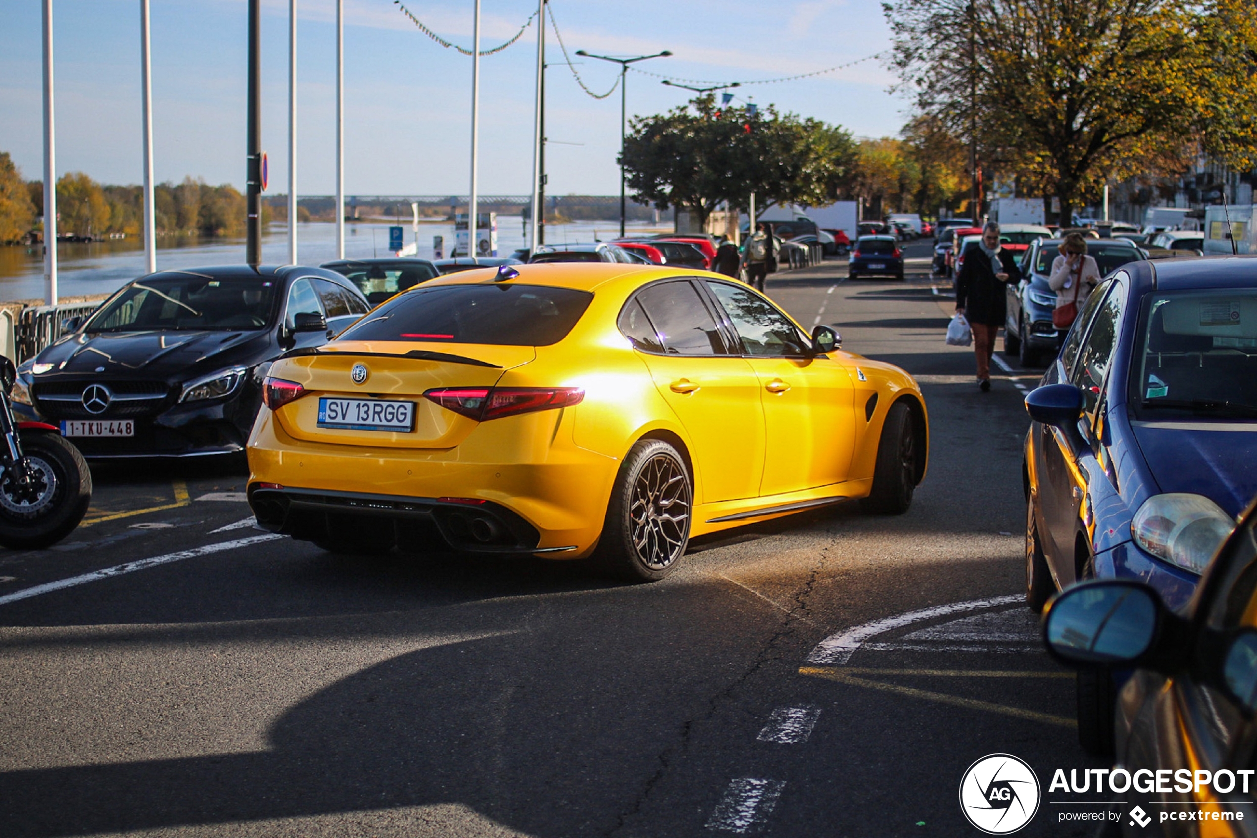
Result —
<path fill-rule="evenodd" d="M 334 558 L 251 529 L 231 464 L 97 472 L 65 543 L 0 553 L 0 834 L 974 835 L 992 753 L 1042 784 L 1021 834 L 1090 834 L 1047 781 L 1100 763 L 1019 599 L 1040 371 L 979 392 L 908 253 L 769 293 L 921 382 L 913 509 L 695 541 L 662 583 Z"/>

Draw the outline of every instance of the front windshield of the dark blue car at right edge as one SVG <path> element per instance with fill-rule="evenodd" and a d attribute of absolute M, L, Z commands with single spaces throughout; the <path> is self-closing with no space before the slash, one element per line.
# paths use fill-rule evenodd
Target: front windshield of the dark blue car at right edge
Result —
<path fill-rule="evenodd" d="M 1140 418 L 1257 418 L 1257 289 L 1153 294 L 1135 346 Z"/>

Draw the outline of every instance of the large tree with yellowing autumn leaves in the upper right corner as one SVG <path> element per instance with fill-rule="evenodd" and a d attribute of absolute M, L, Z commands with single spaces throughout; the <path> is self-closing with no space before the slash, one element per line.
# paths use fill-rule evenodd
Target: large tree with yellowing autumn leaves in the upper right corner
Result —
<path fill-rule="evenodd" d="M 894 67 L 921 113 L 1068 219 L 1198 151 L 1251 168 L 1257 20 L 1241 0 L 887 0 Z"/>

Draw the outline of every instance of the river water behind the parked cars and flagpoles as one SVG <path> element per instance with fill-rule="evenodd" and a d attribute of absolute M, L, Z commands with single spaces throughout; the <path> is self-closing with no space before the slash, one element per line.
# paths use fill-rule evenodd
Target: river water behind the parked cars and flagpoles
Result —
<path fill-rule="evenodd" d="M 546 227 L 548 244 L 593 241 L 613 239 L 618 235 L 616 221 L 573 221 L 551 224 Z M 417 255 L 432 258 L 432 237 L 444 236 L 446 255 L 454 241 L 450 222 L 421 222 L 419 234 L 405 227 L 406 242 L 417 237 Z M 650 222 L 630 222 L 635 234 L 667 232 Z M 519 216 L 499 216 L 498 254 L 509 256 L 524 246 L 527 231 Z M 230 265 L 244 261 L 244 237 L 196 239 L 191 236 L 162 236 L 157 240 L 157 269 Z M 336 258 L 336 225 L 308 222 L 297 225 L 297 255 L 305 265 L 318 265 Z M 378 222 L 347 222 L 344 225 L 344 255 L 351 259 L 387 256 L 388 225 Z M 145 251 L 138 237 L 93 241 L 92 244 L 63 242 L 57 248 L 58 289 L 62 297 L 79 294 L 108 294 L 143 274 Z M 261 260 L 269 265 L 288 261 L 288 225 L 272 224 L 263 234 Z M 0 302 L 43 299 L 44 268 L 39 248 L 0 245 Z"/>

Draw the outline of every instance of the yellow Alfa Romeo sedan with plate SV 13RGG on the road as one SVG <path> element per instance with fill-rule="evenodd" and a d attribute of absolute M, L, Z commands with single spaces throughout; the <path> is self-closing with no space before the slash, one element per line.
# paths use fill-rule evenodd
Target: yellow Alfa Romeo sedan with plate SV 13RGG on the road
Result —
<path fill-rule="evenodd" d="M 665 577 L 690 536 L 925 474 L 904 371 L 808 337 L 718 274 L 469 270 L 289 352 L 249 440 L 249 503 L 329 550 L 595 557 Z"/>

